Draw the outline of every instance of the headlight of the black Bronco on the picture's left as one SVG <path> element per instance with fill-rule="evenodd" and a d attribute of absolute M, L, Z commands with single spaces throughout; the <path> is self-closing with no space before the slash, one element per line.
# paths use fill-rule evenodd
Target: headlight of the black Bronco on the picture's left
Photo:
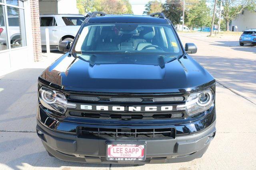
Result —
<path fill-rule="evenodd" d="M 76 104 L 68 103 L 64 94 L 46 87 L 40 88 L 38 97 L 44 107 L 61 114 L 64 114 L 67 108 L 76 108 Z"/>

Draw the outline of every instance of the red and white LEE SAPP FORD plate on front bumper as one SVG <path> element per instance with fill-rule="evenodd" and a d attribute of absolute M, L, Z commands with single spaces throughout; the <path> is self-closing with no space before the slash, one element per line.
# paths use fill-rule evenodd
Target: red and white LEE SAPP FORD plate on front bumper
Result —
<path fill-rule="evenodd" d="M 143 161 L 146 159 L 146 144 L 107 143 L 107 160 Z"/>

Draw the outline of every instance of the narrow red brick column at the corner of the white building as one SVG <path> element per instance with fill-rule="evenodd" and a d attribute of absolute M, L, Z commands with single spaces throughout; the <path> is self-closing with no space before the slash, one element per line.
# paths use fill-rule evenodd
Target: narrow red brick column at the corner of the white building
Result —
<path fill-rule="evenodd" d="M 42 47 L 41 47 L 38 0 L 30 0 L 30 10 L 31 10 L 31 22 L 32 22 L 34 61 L 40 61 L 42 60 Z"/>

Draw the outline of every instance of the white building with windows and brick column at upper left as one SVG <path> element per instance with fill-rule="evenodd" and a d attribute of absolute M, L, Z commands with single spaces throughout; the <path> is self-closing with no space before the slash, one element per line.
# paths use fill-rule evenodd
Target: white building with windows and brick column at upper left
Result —
<path fill-rule="evenodd" d="M 0 0 L 0 72 L 42 60 L 40 14 L 67 13 L 76 0 Z"/>

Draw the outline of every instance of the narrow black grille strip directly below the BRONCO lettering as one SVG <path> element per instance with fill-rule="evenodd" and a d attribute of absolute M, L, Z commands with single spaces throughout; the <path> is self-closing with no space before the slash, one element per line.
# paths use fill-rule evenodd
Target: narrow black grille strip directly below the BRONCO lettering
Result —
<path fill-rule="evenodd" d="M 183 116 L 182 112 L 173 113 L 92 113 L 92 112 L 79 112 L 70 111 L 71 116 L 77 117 L 87 117 L 87 118 L 98 118 L 98 119 L 120 119 L 120 120 L 134 120 L 134 119 L 174 119 L 181 118 Z"/>

